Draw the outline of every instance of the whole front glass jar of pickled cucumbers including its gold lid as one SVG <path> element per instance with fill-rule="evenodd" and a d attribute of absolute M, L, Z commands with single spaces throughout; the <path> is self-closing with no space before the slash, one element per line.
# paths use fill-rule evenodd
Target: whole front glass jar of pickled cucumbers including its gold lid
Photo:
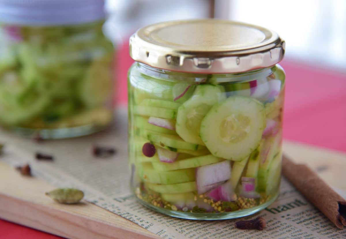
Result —
<path fill-rule="evenodd" d="M 271 204 L 281 179 L 283 40 L 237 22 L 173 21 L 139 29 L 130 55 L 129 163 L 139 202 L 204 220 Z"/>

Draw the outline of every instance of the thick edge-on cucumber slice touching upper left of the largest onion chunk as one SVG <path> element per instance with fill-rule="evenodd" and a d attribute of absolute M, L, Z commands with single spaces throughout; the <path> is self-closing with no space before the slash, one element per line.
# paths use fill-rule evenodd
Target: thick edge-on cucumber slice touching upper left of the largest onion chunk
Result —
<path fill-rule="evenodd" d="M 142 180 L 148 183 L 174 184 L 192 182 L 195 180 L 195 170 L 193 168 L 174 170 L 174 171 L 156 171 L 152 165 L 143 165 Z"/>

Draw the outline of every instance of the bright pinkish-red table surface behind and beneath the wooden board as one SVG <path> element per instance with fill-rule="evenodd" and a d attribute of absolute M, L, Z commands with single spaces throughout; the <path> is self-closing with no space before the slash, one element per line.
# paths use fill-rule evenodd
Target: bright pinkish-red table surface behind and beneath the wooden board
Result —
<path fill-rule="evenodd" d="M 127 103 L 126 77 L 132 63 L 125 44 L 118 51 L 118 104 Z M 286 72 L 284 138 L 346 152 L 346 72 L 292 60 L 281 65 Z M 60 237 L 0 219 L 0 238 Z"/>

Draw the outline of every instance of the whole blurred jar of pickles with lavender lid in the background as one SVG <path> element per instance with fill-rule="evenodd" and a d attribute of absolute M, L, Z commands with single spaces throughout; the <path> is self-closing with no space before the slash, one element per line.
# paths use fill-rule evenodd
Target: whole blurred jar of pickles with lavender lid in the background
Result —
<path fill-rule="evenodd" d="M 66 138 L 112 121 L 104 1 L 0 0 L 0 125 Z"/>

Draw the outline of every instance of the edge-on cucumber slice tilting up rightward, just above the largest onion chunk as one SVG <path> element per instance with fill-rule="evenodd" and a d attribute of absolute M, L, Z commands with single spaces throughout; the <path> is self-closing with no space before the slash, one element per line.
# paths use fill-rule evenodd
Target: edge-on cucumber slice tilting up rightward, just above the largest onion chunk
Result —
<path fill-rule="evenodd" d="M 223 158 L 217 158 L 211 154 L 200 157 L 177 160 L 174 163 L 153 162 L 153 167 L 157 171 L 171 171 L 183 168 L 195 168 L 207 164 L 225 161 Z"/>

